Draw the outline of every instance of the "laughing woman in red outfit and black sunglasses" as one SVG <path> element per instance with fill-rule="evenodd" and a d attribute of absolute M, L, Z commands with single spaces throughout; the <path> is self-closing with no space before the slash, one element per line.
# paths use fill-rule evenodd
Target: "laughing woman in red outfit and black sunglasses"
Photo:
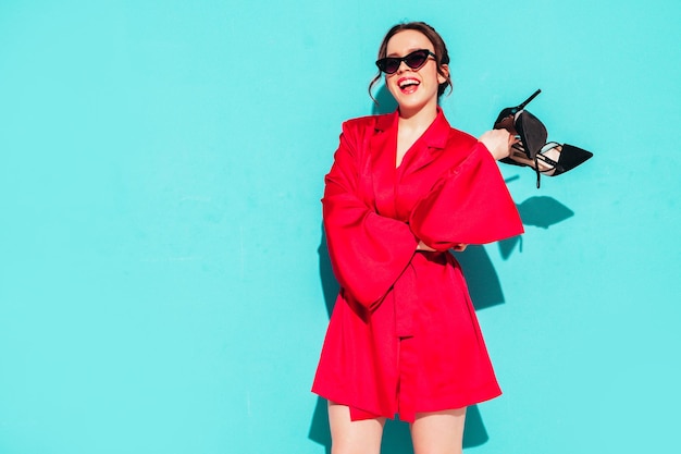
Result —
<path fill-rule="evenodd" d="M 325 179 L 340 291 L 312 391 L 329 400 L 333 454 L 379 453 L 396 414 L 416 454 L 459 453 L 466 407 L 500 394 L 449 249 L 522 233 L 495 162 L 515 138 L 449 126 L 448 62 L 431 26 L 394 26 L 376 64 L 398 109 L 344 123 Z"/>

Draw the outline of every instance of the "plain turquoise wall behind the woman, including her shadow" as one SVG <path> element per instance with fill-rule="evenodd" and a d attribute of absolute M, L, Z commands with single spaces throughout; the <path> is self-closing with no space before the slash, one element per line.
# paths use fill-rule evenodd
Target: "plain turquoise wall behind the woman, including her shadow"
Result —
<path fill-rule="evenodd" d="M 329 452 L 319 199 L 406 20 L 448 44 L 453 125 L 542 88 L 595 155 L 503 165 L 527 233 L 461 256 L 505 391 L 466 451 L 673 451 L 680 2 L 3 0 L 0 453 Z"/>

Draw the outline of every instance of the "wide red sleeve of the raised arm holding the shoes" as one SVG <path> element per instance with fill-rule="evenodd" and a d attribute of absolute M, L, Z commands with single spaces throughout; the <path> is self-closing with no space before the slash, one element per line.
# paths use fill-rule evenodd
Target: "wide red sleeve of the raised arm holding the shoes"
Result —
<path fill-rule="evenodd" d="M 460 243 L 492 243 L 523 232 L 497 163 L 480 142 L 419 200 L 409 223 L 417 237 L 437 250 Z"/>

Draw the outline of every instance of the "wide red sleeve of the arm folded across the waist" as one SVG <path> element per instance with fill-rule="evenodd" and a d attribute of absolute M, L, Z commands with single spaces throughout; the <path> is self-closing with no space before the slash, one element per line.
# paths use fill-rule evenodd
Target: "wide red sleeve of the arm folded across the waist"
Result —
<path fill-rule="evenodd" d="M 380 216 L 360 197 L 361 138 L 344 124 L 334 164 L 325 177 L 324 229 L 340 286 L 373 309 L 411 260 L 418 240 L 406 222 Z"/>

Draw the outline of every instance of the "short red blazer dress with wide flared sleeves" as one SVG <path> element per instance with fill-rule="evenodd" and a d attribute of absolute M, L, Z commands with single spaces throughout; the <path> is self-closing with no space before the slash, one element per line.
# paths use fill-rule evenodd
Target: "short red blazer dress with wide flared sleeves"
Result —
<path fill-rule="evenodd" d="M 312 391 L 352 420 L 460 408 L 500 394 L 447 249 L 522 233 L 498 167 L 437 116 L 395 168 L 397 112 L 343 125 L 324 228 L 340 284 Z M 437 249 L 416 251 L 419 240 Z"/>

